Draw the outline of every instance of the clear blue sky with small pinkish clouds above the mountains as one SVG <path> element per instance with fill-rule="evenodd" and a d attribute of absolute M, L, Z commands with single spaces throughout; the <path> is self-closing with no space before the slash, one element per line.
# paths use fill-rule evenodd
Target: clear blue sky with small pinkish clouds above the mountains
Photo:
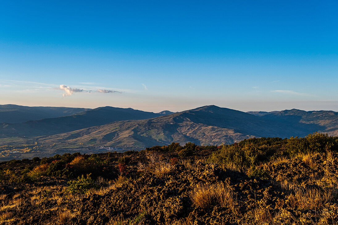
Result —
<path fill-rule="evenodd" d="M 1 5 L 0 104 L 338 111 L 336 1 Z"/>

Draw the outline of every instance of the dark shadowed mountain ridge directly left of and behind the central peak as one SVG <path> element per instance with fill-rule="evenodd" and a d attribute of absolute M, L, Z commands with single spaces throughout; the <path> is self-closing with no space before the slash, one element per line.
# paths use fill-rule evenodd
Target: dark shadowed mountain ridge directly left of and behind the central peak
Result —
<path fill-rule="evenodd" d="M 159 117 L 160 114 L 132 108 L 99 107 L 66 117 L 27 121 L 20 124 L 0 124 L 0 133 L 5 136 L 41 136 L 69 132 L 99 126 L 114 121 L 140 120 Z"/>

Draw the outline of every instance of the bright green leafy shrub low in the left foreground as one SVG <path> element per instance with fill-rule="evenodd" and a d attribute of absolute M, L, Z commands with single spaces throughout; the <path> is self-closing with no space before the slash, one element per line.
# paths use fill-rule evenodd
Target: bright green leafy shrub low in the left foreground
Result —
<path fill-rule="evenodd" d="M 67 188 L 67 191 L 72 194 L 74 193 L 85 194 L 90 189 L 98 188 L 94 180 L 90 178 L 90 174 L 87 175 L 87 178 L 84 178 L 84 176 L 82 175 L 81 177 L 78 177 L 77 180 L 68 181 L 68 184 L 69 186 Z"/>

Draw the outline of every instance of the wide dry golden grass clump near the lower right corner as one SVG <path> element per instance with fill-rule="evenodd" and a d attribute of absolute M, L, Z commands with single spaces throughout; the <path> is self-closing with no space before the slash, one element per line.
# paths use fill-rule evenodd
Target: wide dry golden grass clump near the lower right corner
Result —
<path fill-rule="evenodd" d="M 333 193 L 329 189 L 320 191 L 319 189 L 296 189 L 294 194 L 289 196 L 289 203 L 292 207 L 298 209 L 316 210 L 321 208 L 325 203 L 333 199 Z"/>

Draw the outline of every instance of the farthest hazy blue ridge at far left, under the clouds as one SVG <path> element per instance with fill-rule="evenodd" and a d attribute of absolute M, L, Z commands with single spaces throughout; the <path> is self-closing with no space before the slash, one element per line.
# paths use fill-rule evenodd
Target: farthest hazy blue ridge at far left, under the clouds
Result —
<path fill-rule="evenodd" d="M 21 105 L 0 105 L 0 123 L 24 123 L 29 120 L 70 116 L 88 108 L 29 107 Z"/>

